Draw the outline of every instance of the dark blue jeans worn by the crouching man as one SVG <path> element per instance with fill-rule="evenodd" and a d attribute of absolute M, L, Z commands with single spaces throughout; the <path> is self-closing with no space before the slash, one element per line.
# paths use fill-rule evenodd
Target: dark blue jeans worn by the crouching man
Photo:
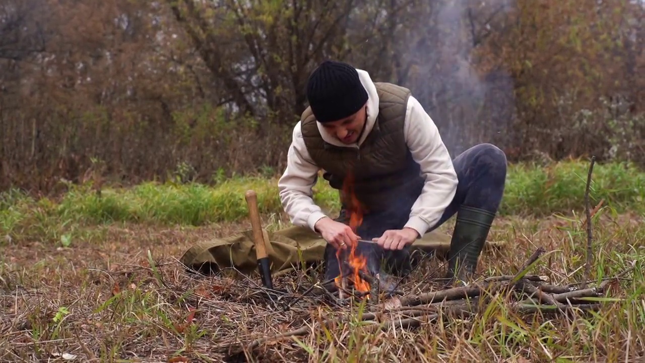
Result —
<path fill-rule="evenodd" d="M 504 194 L 506 183 L 506 155 L 502 150 L 489 143 L 475 145 L 453 159 L 457 172 L 457 192 L 435 225 L 426 233 L 433 231 L 449 220 L 462 205 L 497 213 Z M 408 189 L 406 194 L 397 196 L 397 203 L 391 209 L 363 216 L 356 233 L 364 240 L 379 238 L 389 229 L 402 229 L 410 218 L 413 203 L 421 194 L 423 182 Z M 399 193 L 401 191 L 398 191 Z M 343 220 L 344 211 L 337 220 Z M 394 275 L 404 275 L 410 268 L 410 246 L 402 250 L 385 251 L 377 244 L 361 244 L 358 252 L 368 259 L 371 273 L 381 271 L 381 264 Z M 340 275 L 336 249 L 328 244 L 325 249 L 325 279 Z M 345 269 L 345 267 L 343 267 Z"/>

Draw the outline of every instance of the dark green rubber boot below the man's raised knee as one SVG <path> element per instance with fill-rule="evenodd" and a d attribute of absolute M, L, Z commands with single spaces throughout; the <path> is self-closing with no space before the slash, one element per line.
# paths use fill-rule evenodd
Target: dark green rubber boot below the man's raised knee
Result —
<path fill-rule="evenodd" d="M 494 219 L 494 213 L 479 208 L 462 205 L 457 211 L 455 231 L 448 251 L 446 278 L 450 280 L 450 284 L 454 284 L 455 279 L 470 281 Z"/>

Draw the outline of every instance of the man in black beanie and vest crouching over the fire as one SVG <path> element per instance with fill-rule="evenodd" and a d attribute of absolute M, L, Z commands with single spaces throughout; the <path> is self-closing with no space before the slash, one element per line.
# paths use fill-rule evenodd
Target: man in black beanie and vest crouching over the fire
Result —
<path fill-rule="evenodd" d="M 408 271 L 410 245 L 455 213 L 448 278 L 470 278 L 504 192 L 504 152 L 481 144 L 451 160 L 435 123 L 410 90 L 374 83 L 368 72 L 346 63 L 321 63 L 306 94 L 310 107 L 293 128 L 278 187 L 292 223 L 328 242 L 326 279 L 339 275 L 337 249 L 357 238 L 375 241 L 367 245 L 381 247 L 390 265 Z M 337 220 L 313 202 L 321 169 L 339 190 L 348 176 L 354 178 L 355 196 L 366 209 L 356 233 L 343 220 L 349 196 L 341 192 Z"/>

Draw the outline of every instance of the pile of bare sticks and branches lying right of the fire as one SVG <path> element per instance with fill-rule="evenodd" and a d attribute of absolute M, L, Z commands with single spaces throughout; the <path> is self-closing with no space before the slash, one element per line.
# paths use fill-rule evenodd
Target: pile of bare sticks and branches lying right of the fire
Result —
<path fill-rule="evenodd" d="M 312 329 L 320 326 L 333 329 L 334 326 L 356 319 L 362 322 L 372 322 L 366 327 L 375 330 L 392 327 L 417 327 L 438 320 L 440 317 L 464 319 L 486 309 L 495 299 L 503 301 L 505 309 L 517 314 L 562 315 L 575 311 L 598 311 L 602 304 L 597 300 L 585 300 L 585 298 L 606 296 L 605 293 L 612 283 L 617 282 L 633 269 L 631 267 L 618 276 L 605 279 L 597 287 L 586 287 L 587 282 L 585 281 L 564 286 L 551 285 L 548 284 L 548 279 L 545 276 L 526 274 L 543 253 L 544 249 L 537 249 L 516 275 L 491 276 L 473 285 L 442 289 L 420 295 L 394 297 L 382 304 L 370 302 L 367 304 L 368 312 L 362 315 L 350 313 L 339 318 L 328 318 L 310 326 L 254 340 L 248 344 L 247 348 L 253 349 L 266 342 L 277 342 L 290 337 L 307 335 L 311 333 Z"/>

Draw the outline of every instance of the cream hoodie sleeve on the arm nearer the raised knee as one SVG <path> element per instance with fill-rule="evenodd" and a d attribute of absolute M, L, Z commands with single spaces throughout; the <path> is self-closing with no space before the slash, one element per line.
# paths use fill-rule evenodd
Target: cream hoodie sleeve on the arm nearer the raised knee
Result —
<path fill-rule="evenodd" d="M 422 236 L 452 202 L 457 192 L 457 172 L 437 125 L 412 96 L 408 99 L 404 132 L 412 157 L 421 165 L 421 175 L 426 178 L 405 227 L 415 229 Z"/>

